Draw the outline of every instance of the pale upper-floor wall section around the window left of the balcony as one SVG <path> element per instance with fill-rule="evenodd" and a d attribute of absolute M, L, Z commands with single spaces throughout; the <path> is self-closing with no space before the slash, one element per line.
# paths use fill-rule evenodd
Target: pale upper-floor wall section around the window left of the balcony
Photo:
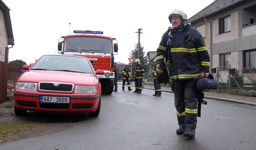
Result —
<path fill-rule="evenodd" d="M 219 34 L 219 19 L 225 17 L 221 16 L 213 20 L 213 36 L 212 36 L 212 43 L 218 43 L 226 40 L 235 39 L 238 37 L 238 12 L 233 12 L 230 14 L 230 32 L 225 32 Z"/>

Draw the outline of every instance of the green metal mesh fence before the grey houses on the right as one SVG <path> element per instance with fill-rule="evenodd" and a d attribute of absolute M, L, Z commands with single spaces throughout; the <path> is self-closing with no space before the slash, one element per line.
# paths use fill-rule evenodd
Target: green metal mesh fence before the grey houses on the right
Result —
<path fill-rule="evenodd" d="M 256 68 L 238 70 L 229 65 L 217 67 L 213 75 L 219 83 L 218 92 L 256 91 Z"/>

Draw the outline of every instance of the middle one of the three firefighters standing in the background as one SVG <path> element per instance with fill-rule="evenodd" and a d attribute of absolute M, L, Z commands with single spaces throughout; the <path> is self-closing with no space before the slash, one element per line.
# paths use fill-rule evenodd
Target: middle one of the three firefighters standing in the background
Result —
<path fill-rule="evenodd" d="M 141 93 L 142 87 L 141 87 L 141 83 L 142 83 L 142 79 L 145 78 L 145 74 L 144 74 L 144 67 L 140 64 L 140 59 L 135 59 L 134 60 L 136 66 L 136 70 L 135 70 L 135 91 L 133 91 L 133 93 Z"/>

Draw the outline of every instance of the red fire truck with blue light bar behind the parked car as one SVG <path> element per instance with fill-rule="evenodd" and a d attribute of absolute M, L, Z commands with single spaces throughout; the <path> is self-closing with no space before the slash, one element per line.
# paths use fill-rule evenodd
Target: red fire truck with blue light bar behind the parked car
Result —
<path fill-rule="evenodd" d="M 87 57 L 96 71 L 104 70 L 104 75 L 97 75 L 102 94 L 110 95 L 114 89 L 114 52 L 118 51 L 115 38 L 101 36 L 103 31 L 74 30 L 76 35 L 61 36 L 58 51 L 64 55 Z M 63 40 L 60 42 L 60 40 Z M 117 41 L 116 41 L 117 42 Z M 62 46 L 63 43 L 63 46 Z M 83 65 L 83 64 L 81 64 Z"/>

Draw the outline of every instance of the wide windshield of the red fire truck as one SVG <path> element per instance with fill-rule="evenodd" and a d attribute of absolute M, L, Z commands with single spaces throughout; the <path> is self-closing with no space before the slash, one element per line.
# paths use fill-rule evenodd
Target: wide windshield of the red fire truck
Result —
<path fill-rule="evenodd" d="M 64 43 L 64 51 L 112 53 L 112 42 L 99 37 L 68 37 Z"/>

